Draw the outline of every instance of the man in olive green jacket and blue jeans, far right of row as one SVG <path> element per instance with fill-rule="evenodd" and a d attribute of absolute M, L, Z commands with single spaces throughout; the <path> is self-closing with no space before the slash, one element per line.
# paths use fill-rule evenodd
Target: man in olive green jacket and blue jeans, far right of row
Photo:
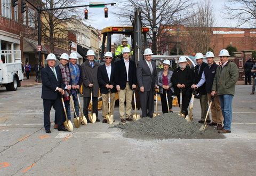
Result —
<path fill-rule="evenodd" d="M 230 62 L 227 50 L 221 50 L 219 57 L 221 65 L 216 69 L 212 85 L 212 96 L 219 95 L 224 126 L 219 133 L 231 132 L 232 100 L 238 80 L 238 69 L 234 62 Z"/>

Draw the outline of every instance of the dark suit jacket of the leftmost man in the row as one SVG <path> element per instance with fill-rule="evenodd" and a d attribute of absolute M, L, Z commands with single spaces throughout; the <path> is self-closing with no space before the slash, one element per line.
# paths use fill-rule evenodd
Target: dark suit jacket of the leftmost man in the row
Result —
<path fill-rule="evenodd" d="M 58 97 L 58 91 L 56 87 L 60 87 L 61 89 L 65 88 L 65 84 L 62 82 L 62 75 L 60 68 L 55 67 L 58 81 L 52 71 L 52 69 L 47 66 L 41 70 L 41 77 L 42 77 L 42 99 L 47 100 L 55 100 Z"/>

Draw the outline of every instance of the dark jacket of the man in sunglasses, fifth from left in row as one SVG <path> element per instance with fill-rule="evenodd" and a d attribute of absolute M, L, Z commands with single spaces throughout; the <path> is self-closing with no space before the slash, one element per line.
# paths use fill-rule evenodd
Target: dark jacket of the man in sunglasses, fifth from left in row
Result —
<path fill-rule="evenodd" d="M 115 71 L 115 65 L 111 64 L 111 74 L 110 74 L 110 80 L 109 80 L 106 65 L 103 64 L 98 68 L 98 81 L 100 84 L 100 93 L 104 93 L 104 94 L 108 93 L 108 89 L 106 87 L 107 84 L 114 86 L 113 89 L 110 90 L 110 92 L 112 93 L 116 92 L 114 71 Z"/>

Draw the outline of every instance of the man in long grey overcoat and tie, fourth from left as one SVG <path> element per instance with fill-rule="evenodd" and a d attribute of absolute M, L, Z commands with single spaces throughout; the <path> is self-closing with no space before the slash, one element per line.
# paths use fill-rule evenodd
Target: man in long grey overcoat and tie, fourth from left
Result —
<path fill-rule="evenodd" d="M 94 51 L 87 51 L 87 59 L 82 63 L 83 70 L 83 92 L 84 92 L 84 115 L 88 123 L 91 123 L 88 117 L 88 107 L 91 100 L 91 90 L 92 90 L 92 113 L 95 113 L 97 119 L 96 122 L 100 122 L 98 118 L 98 96 L 99 96 L 99 82 L 98 82 L 98 67 L 100 64 L 94 61 Z"/>

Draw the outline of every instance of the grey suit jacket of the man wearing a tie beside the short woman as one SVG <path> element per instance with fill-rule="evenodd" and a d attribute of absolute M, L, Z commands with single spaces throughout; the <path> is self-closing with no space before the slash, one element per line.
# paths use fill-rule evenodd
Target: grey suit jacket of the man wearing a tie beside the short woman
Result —
<path fill-rule="evenodd" d="M 149 91 L 150 87 L 154 90 L 155 85 L 157 85 L 157 72 L 156 63 L 150 61 L 152 65 L 153 72 L 148 67 L 146 60 L 142 60 L 138 63 L 137 67 L 137 81 L 139 87 L 144 86 L 144 91 Z"/>

